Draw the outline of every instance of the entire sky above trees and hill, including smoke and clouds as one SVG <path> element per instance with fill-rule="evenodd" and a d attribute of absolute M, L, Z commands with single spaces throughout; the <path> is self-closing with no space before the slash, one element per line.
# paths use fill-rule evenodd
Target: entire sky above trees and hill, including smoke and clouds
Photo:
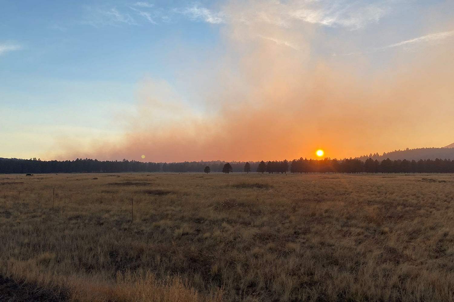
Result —
<path fill-rule="evenodd" d="M 448 0 L 3 0 L 0 157 L 443 147 L 454 142 L 453 15 Z"/>

